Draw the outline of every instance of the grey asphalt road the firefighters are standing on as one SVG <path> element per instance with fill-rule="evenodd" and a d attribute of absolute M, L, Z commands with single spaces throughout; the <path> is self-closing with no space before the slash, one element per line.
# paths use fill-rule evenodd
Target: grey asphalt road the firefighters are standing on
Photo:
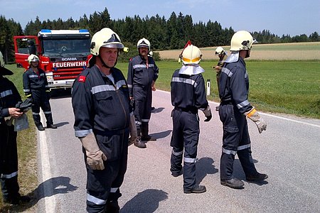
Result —
<path fill-rule="evenodd" d="M 86 172 L 82 147 L 73 131 L 70 97 L 50 100 L 58 129 L 38 132 L 38 212 L 85 212 Z M 198 144 L 197 179 L 203 194 L 184 194 L 182 176 L 170 173 L 171 101 L 154 92 L 149 133 L 158 138 L 147 148 L 129 147 L 128 169 L 121 187 L 120 212 L 320 212 L 320 120 L 262 114 L 267 131 L 259 134 L 248 121 L 257 170 L 269 178 L 246 182 L 238 158 L 235 177 L 242 190 L 220 185 L 222 125 L 210 102 L 213 119 L 203 122 Z"/>

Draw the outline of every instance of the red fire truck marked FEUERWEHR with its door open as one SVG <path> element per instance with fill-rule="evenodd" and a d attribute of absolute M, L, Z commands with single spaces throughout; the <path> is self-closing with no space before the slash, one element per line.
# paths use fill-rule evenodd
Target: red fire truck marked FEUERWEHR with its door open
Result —
<path fill-rule="evenodd" d="M 72 87 L 75 77 L 87 67 L 90 33 L 83 30 L 41 30 L 38 35 L 14 36 L 16 63 L 28 69 L 28 56 L 38 55 L 50 89 Z"/>

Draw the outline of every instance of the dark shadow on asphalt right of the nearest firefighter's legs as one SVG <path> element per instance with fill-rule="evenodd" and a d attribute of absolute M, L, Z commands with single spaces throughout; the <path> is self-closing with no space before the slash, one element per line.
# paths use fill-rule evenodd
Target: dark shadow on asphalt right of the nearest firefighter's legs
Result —
<path fill-rule="evenodd" d="M 168 193 L 162 190 L 144 190 L 124 204 L 120 212 L 156 212 L 156 209 L 159 207 L 159 202 L 167 198 Z"/>

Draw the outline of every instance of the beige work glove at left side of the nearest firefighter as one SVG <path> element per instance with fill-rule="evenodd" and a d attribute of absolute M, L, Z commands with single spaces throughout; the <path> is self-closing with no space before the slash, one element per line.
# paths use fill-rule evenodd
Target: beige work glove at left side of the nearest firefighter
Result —
<path fill-rule="evenodd" d="M 95 135 L 90 133 L 87 136 L 80 138 L 80 141 L 83 148 L 85 148 L 87 165 L 89 165 L 92 170 L 104 170 L 105 165 L 103 164 L 103 160 L 107 160 L 107 156 L 102 153 L 97 145 Z"/>

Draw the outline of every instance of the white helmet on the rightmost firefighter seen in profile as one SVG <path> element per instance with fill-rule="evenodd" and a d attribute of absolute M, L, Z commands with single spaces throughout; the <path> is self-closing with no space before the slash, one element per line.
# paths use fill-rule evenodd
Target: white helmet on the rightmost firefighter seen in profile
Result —
<path fill-rule="evenodd" d="M 247 31 L 238 31 L 231 38 L 230 51 L 250 50 L 252 43 L 254 43 L 252 35 Z"/>

